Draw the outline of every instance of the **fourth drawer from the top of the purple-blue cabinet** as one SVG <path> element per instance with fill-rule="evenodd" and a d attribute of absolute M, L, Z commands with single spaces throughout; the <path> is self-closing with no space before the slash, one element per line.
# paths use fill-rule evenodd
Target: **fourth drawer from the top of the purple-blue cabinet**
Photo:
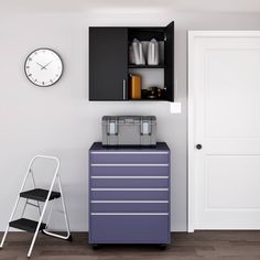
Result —
<path fill-rule="evenodd" d="M 93 191 L 90 189 L 91 201 L 112 201 L 112 199 L 139 199 L 139 201 L 165 201 L 169 199 L 169 191 Z"/>

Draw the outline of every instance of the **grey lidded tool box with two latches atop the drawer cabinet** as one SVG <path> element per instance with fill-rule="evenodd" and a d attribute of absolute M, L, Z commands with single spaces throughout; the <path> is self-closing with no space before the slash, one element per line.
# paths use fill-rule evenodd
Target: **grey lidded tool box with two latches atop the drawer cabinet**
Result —
<path fill-rule="evenodd" d="M 154 116 L 104 116 L 102 145 L 156 145 Z"/>

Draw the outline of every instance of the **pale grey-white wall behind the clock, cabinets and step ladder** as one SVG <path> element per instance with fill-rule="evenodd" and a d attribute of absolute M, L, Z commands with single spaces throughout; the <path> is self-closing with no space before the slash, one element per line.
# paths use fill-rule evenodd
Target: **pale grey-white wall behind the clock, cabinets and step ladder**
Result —
<path fill-rule="evenodd" d="M 0 3 L 0 9 L 1 9 Z M 64 3 L 65 4 L 65 3 Z M 158 10 L 86 9 L 74 12 L 15 12 L 6 7 L 0 22 L 0 230 L 8 221 L 29 160 L 37 153 L 57 155 L 73 230 L 88 230 L 88 149 L 100 140 L 102 115 L 154 115 L 158 139 L 172 150 L 172 230 L 186 230 L 186 32 L 187 30 L 260 30 L 260 15 L 185 13 Z M 89 102 L 88 26 L 165 25 L 175 21 L 176 101 Z M 57 51 L 65 65 L 58 84 L 33 86 L 23 63 L 34 48 Z"/>

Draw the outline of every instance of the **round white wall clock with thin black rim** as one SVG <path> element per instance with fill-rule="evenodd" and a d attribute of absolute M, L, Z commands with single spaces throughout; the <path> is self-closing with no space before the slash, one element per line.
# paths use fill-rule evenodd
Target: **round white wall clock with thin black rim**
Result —
<path fill-rule="evenodd" d="M 40 87 L 55 84 L 63 74 L 61 57 L 50 48 L 39 48 L 32 52 L 24 66 L 28 78 Z"/>

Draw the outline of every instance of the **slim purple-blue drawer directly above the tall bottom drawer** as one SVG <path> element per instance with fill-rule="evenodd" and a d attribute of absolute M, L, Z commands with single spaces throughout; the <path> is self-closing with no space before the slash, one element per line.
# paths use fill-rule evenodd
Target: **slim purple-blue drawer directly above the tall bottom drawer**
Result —
<path fill-rule="evenodd" d="M 166 202 L 166 203 L 165 203 Z M 91 213 L 169 213 L 169 203 L 95 203 Z"/>

